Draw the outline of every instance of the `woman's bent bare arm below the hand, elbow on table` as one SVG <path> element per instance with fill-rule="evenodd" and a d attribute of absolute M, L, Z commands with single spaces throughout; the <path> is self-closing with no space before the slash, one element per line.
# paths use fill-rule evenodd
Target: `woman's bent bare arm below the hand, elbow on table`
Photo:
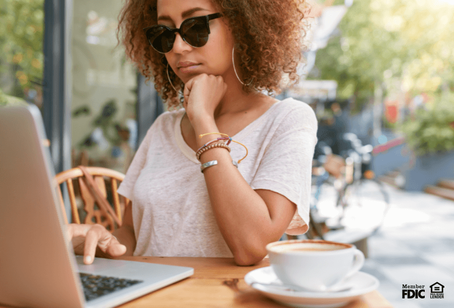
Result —
<path fill-rule="evenodd" d="M 217 137 L 198 138 L 198 134 L 207 131 L 218 131 L 214 121 L 195 127 L 199 146 Z M 266 255 L 266 244 L 278 240 L 286 230 L 296 207 L 290 201 L 282 206 L 267 204 L 232 164 L 232 157 L 224 148 L 202 153 L 202 164 L 212 160 L 218 163 L 206 168 L 204 177 L 219 230 L 239 265 L 254 264 Z"/>

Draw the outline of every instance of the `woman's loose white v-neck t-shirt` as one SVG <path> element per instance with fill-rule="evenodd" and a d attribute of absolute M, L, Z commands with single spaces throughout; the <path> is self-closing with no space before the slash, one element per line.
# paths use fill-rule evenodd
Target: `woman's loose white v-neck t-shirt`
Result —
<path fill-rule="evenodd" d="M 118 190 L 133 204 L 134 255 L 232 257 L 214 218 L 200 162 L 183 139 L 184 114 L 184 109 L 165 112 L 154 121 Z M 231 136 L 248 148 L 238 170 L 249 185 L 297 204 L 289 234 L 308 230 L 316 131 L 312 109 L 287 98 Z M 229 146 L 233 160 L 245 156 L 240 144 Z"/>

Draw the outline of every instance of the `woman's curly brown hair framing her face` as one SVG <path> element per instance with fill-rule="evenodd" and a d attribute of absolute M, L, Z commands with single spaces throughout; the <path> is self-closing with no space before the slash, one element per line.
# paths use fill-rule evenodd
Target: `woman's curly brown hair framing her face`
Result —
<path fill-rule="evenodd" d="M 279 93 L 282 77 L 297 82 L 297 66 L 302 60 L 305 36 L 302 21 L 305 0 L 212 0 L 232 29 L 239 69 L 246 92 L 266 90 Z M 156 0 L 126 0 L 119 16 L 119 42 L 127 56 L 150 80 L 167 102 L 178 107 L 181 97 L 167 78 L 167 61 L 148 43 L 143 28 L 157 24 Z M 171 70 L 168 73 L 177 90 L 183 82 Z"/>

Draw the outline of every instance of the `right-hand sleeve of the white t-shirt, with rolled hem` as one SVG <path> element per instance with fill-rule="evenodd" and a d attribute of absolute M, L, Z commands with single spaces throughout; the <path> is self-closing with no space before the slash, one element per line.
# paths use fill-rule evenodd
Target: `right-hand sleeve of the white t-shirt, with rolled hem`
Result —
<path fill-rule="evenodd" d="M 305 233 L 309 227 L 311 171 L 317 142 L 317 119 L 309 105 L 298 102 L 287 113 L 265 149 L 251 182 L 253 189 L 275 191 L 297 206 L 287 234 Z"/>

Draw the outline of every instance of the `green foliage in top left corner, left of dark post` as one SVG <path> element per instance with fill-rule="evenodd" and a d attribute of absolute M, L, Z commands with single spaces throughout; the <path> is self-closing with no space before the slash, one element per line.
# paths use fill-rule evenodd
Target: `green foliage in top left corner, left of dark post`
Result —
<path fill-rule="evenodd" d="M 23 96 L 43 73 L 43 0 L 6 0 L 0 6 L 0 87 Z"/>

